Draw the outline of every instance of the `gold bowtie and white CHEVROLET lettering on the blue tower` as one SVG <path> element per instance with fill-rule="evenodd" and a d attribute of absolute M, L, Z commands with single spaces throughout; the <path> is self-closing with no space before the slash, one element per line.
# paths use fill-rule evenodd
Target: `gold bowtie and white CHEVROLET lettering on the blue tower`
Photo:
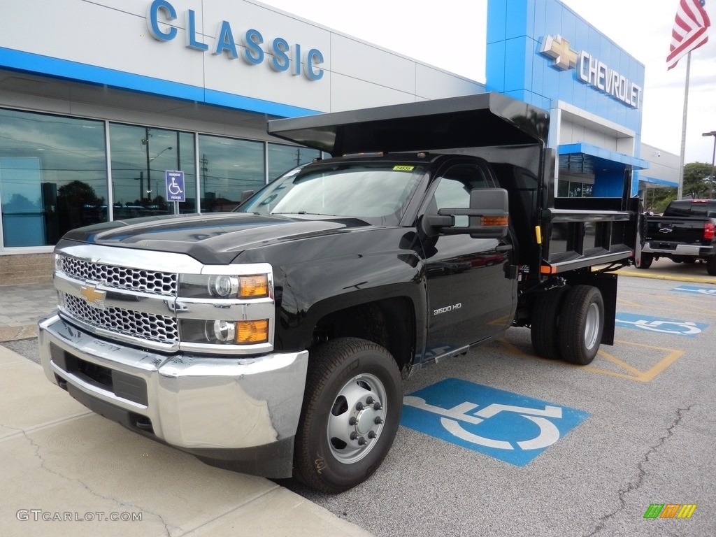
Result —
<path fill-rule="evenodd" d="M 629 81 L 623 74 L 611 69 L 604 62 L 584 50 L 577 52 L 561 35 L 547 35 L 542 41 L 540 54 L 553 59 L 553 67 L 560 71 L 576 69 L 576 77 L 624 105 L 639 108 L 642 87 Z"/>

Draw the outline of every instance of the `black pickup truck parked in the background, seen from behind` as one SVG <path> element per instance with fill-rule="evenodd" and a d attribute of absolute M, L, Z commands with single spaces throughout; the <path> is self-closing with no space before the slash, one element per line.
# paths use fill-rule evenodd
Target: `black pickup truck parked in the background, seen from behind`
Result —
<path fill-rule="evenodd" d="M 639 269 L 649 269 L 654 259 L 674 263 L 706 263 L 716 276 L 716 200 L 674 200 L 662 216 L 647 214 L 642 230 Z"/>

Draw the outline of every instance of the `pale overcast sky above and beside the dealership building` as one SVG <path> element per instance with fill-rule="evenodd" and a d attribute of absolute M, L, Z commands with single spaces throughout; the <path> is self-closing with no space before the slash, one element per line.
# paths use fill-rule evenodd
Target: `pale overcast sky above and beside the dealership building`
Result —
<path fill-rule="evenodd" d="M 321 26 L 485 82 L 487 0 L 261 0 Z M 646 68 L 642 142 L 680 154 L 686 58 L 667 71 L 678 0 L 563 0 Z M 440 6 L 440 9 L 437 9 Z M 712 163 L 716 130 L 716 0 L 707 44 L 691 54 L 684 162 Z M 642 155 L 651 158 L 654 155 Z"/>

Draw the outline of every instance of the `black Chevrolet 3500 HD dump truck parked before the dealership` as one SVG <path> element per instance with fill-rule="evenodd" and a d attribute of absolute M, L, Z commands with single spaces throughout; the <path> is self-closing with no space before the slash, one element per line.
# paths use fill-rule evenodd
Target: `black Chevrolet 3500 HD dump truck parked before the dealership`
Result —
<path fill-rule="evenodd" d="M 621 198 L 555 199 L 543 110 L 485 94 L 268 129 L 333 158 L 233 213 L 59 241 L 51 382 L 206 463 L 339 493 L 379 467 L 421 367 L 511 326 L 574 364 L 613 344 L 639 199 L 629 173 Z"/>

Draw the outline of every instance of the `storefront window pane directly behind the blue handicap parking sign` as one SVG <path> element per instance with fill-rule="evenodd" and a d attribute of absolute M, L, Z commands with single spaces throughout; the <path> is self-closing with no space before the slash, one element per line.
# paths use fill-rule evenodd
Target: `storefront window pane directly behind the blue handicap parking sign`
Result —
<path fill-rule="evenodd" d="M 112 211 L 115 220 L 173 213 L 166 200 L 165 171 L 183 171 L 186 202 L 196 212 L 194 135 L 190 132 L 110 124 Z"/>

